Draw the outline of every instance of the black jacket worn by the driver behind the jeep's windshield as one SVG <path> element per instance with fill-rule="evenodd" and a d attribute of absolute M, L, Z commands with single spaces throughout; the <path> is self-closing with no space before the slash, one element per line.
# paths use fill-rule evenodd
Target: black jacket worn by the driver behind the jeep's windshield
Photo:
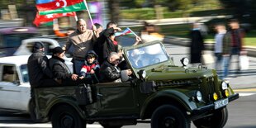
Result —
<path fill-rule="evenodd" d="M 120 69 L 114 64 L 109 63 L 107 60 L 104 61 L 100 69 L 100 82 L 113 82 L 118 78 L 121 78 Z"/>

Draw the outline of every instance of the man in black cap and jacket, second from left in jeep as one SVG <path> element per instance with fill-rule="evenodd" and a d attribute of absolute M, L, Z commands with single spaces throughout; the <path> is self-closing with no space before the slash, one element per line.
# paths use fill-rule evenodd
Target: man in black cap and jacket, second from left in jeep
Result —
<path fill-rule="evenodd" d="M 71 73 L 68 66 L 64 63 L 64 50 L 61 47 L 53 49 L 52 58 L 49 59 L 50 69 L 55 81 L 62 85 L 74 85 L 78 75 Z"/>

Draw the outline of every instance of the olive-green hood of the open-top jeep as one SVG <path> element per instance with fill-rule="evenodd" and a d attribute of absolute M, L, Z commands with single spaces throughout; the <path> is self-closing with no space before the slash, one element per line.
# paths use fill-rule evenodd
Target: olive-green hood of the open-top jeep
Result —
<path fill-rule="evenodd" d="M 174 79 L 202 78 L 215 75 L 211 69 L 183 68 L 178 66 L 160 66 L 147 70 L 147 81 L 168 81 Z"/>

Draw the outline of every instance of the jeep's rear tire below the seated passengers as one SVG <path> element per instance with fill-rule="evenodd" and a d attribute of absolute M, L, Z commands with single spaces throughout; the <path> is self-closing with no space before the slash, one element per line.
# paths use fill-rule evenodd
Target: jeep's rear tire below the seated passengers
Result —
<path fill-rule="evenodd" d="M 86 128 L 86 121 L 83 121 L 78 112 L 67 105 L 57 107 L 51 116 L 53 128 Z"/>

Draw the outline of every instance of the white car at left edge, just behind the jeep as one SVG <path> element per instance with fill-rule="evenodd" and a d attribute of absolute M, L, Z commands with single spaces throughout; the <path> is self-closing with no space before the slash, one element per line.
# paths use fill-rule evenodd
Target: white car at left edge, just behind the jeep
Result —
<path fill-rule="evenodd" d="M 0 58 L 0 109 L 28 113 L 31 86 L 27 73 L 29 55 Z"/>

